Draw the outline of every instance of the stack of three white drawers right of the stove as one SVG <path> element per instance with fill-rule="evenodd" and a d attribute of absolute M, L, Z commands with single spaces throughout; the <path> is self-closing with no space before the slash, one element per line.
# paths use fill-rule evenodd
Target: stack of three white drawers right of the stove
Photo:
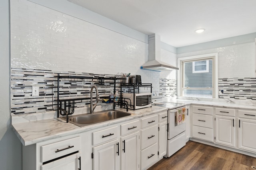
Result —
<path fill-rule="evenodd" d="M 212 142 L 212 107 L 192 106 L 192 112 L 192 137 Z"/>

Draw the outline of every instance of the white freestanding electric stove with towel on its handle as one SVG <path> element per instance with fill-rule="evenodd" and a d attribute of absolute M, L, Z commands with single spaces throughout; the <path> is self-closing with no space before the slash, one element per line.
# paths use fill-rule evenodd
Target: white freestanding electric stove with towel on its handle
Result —
<path fill-rule="evenodd" d="M 160 92 L 152 93 L 152 95 L 154 96 L 152 101 L 155 101 L 153 106 L 168 108 L 167 154 L 165 157 L 170 157 L 186 145 L 186 121 L 179 124 L 176 115 L 180 109 L 184 111 L 185 115 L 188 115 L 188 109 L 186 104 L 162 102 L 163 94 Z"/>

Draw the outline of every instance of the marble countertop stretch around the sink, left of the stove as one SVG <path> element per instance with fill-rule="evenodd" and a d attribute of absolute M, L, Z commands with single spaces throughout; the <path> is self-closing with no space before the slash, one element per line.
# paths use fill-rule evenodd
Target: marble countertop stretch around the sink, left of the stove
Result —
<path fill-rule="evenodd" d="M 124 111 L 126 109 L 117 110 Z M 12 124 L 12 128 L 14 130 L 14 133 L 16 133 L 16 135 L 20 139 L 21 143 L 24 146 L 27 146 L 42 141 L 47 141 L 50 139 L 56 139 L 58 137 L 64 137 L 67 135 L 73 135 L 76 133 L 90 131 L 92 129 L 97 129 L 99 127 L 104 127 L 115 123 L 129 121 L 132 119 L 136 119 L 138 117 L 147 116 L 165 110 L 167 109 L 158 106 L 152 106 L 138 110 L 129 110 L 128 112 L 134 113 L 134 115 L 120 119 L 115 119 L 112 121 L 106 121 L 103 123 L 97 123 L 94 125 L 88 125 L 85 127 L 78 127 L 77 125 L 74 125 L 72 123 L 66 123 L 66 121 L 64 121 L 61 118 L 52 118 L 37 121 L 27 121 L 23 123 L 15 123 Z"/>

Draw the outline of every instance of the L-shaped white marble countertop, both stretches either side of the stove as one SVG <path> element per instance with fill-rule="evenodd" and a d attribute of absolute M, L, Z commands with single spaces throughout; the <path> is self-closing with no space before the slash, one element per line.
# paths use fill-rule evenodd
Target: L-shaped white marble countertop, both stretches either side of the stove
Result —
<path fill-rule="evenodd" d="M 172 99 L 172 98 L 165 98 L 165 102 L 174 102 L 174 103 L 181 103 L 181 104 L 194 104 L 194 105 L 204 105 L 204 106 L 213 106 L 213 107 L 228 107 L 234 109 L 256 109 L 256 104 L 239 104 L 235 102 L 230 102 L 227 100 L 226 102 L 223 101 L 202 101 L 202 100 L 181 100 L 181 99 Z M 125 109 L 120 109 L 124 111 Z M 85 127 L 78 127 L 72 123 L 66 123 L 61 118 L 54 118 L 51 115 L 47 115 L 46 118 L 38 119 L 40 115 L 29 115 L 30 117 L 17 115 L 16 117 L 12 117 L 14 122 L 17 119 L 26 119 L 26 122 L 23 123 L 12 123 L 12 127 L 14 132 L 20 139 L 21 143 L 26 145 L 32 145 L 35 143 L 39 143 L 42 141 L 47 141 L 50 139 L 56 139 L 58 137 L 64 137 L 67 135 L 72 135 L 76 133 L 82 133 L 86 131 L 90 131 L 92 129 L 97 129 L 99 127 L 104 127 L 108 125 L 112 125 L 115 123 L 120 123 L 123 121 L 128 121 L 132 119 L 136 119 L 138 117 L 143 117 L 146 115 L 158 113 L 160 111 L 167 110 L 164 107 L 152 106 L 147 107 L 144 109 L 138 110 L 129 110 L 129 113 L 134 113 L 133 116 L 124 117 L 120 119 L 115 119 L 112 121 L 106 121 L 103 123 L 97 123 L 94 125 L 88 125 Z M 54 115 L 52 113 L 52 115 Z M 42 115 L 41 115 L 42 116 Z"/>

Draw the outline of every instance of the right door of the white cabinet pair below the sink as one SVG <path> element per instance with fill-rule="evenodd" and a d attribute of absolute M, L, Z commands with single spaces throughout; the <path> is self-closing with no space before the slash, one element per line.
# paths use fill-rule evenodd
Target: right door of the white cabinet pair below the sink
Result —
<path fill-rule="evenodd" d="M 121 170 L 139 170 L 140 132 L 121 137 Z"/>

